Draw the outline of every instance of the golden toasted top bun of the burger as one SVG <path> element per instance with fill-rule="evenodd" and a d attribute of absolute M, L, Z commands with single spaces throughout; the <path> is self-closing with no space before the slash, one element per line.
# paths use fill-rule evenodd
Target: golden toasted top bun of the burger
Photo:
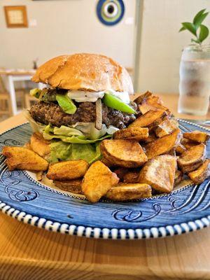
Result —
<path fill-rule="evenodd" d="M 31 80 L 66 90 L 134 92 L 123 66 L 105 55 L 89 53 L 52 58 L 38 67 Z"/>

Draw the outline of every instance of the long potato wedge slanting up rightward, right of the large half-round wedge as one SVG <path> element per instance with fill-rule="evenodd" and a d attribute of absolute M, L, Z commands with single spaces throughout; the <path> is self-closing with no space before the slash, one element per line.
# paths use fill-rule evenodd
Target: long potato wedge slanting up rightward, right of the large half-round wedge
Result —
<path fill-rule="evenodd" d="M 172 132 L 172 134 L 166 135 L 149 144 L 146 144 L 144 148 L 146 149 L 146 155 L 148 159 L 154 158 L 157 155 L 169 153 L 172 148 L 176 148 L 176 146 L 179 145 L 180 137 L 181 132 L 179 129 L 176 129 L 174 132 Z"/>

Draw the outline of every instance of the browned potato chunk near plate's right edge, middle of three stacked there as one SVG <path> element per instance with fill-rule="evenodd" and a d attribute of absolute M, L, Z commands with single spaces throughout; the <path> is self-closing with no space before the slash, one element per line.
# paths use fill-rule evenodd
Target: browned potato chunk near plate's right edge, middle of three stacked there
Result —
<path fill-rule="evenodd" d="M 177 163 L 183 173 L 191 172 L 202 165 L 206 155 L 206 145 L 200 144 L 182 153 Z"/>

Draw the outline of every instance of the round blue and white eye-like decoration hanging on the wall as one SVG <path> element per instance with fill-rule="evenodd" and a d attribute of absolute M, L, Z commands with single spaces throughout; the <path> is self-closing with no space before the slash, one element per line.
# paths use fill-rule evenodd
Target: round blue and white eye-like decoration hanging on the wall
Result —
<path fill-rule="evenodd" d="M 123 0 L 99 0 L 97 17 L 104 25 L 116 25 L 125 13 Z"/>

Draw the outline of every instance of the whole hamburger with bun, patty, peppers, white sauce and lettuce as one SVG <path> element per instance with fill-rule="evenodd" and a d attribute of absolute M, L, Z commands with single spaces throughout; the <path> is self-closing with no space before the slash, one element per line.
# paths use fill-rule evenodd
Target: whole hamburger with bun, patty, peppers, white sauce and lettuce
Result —
<path fill-rule="evenodd" d="M 34 131 L 50 140 L 50 162 L 94 162 L 101 157 L 100 141 L 136 119 L 132 80 L 123 66 L 104 55 L 52 58 L 31 80 L 46 85 L 31 90 L 38 102 L 27 118 Z"/>

